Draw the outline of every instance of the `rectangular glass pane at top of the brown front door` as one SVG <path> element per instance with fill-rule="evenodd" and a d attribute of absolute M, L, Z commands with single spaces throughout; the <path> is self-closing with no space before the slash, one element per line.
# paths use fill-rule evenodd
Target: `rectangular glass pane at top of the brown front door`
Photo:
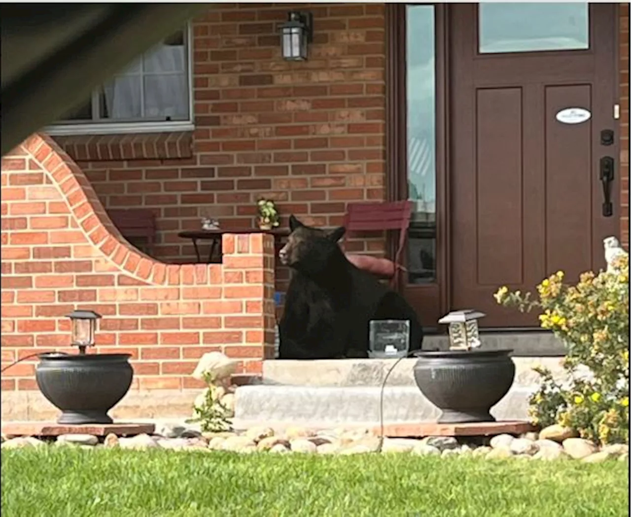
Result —
<path fill-rule="evenodd" d="M 587 3 L 481 3 L 480 54 L 589 49 Z"/>

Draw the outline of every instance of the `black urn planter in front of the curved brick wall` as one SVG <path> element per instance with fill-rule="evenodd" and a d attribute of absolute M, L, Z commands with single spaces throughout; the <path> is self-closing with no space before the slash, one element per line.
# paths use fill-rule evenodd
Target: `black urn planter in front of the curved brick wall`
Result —
<path fill-rule="evenodd" d="M 59 424 L 111 424 L 107 412 L 129 391 L 130 354 L 40 354 L 35 379 L 61 410 Z"/>

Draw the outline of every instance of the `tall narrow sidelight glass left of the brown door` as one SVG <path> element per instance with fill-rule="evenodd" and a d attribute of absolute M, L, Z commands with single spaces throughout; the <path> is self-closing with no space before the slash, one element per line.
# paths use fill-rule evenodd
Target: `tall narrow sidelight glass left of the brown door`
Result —
<path fill-rule="evenodd" d="M 436 126 L 434 8 L 407 12 L 408 199 L 415 203 L 408 236 L 408 282 L 436 279 Z"/>

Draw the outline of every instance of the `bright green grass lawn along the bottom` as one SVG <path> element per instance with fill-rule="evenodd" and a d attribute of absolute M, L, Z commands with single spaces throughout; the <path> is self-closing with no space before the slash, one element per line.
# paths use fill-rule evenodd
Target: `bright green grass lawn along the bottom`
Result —
<path fill-rule="evenodd" d="M 623 462 L 2 452 L 10 517 L 621 517 L 627 509 Z"/>

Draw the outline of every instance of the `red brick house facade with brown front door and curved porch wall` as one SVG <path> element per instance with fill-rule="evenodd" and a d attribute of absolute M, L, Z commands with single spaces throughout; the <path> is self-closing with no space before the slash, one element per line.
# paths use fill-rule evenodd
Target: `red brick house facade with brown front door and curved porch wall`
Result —
<path fill-rule="evenodd" d="M 281 52 L 290 11 L 312 15 L 304 61 Z M 628 12 L 209 4 L 47 128 L 54 142 L 32 139 L 3 160 L 3 365 L 67 342 L 63 311 L 91 305 L 109 311 L 100 346 L 130 349 L 141 390 L 192 387 L 196 358 L 220 344 L 256 373 L 270 357 L 272 293 L 288 277 L 276 268 L 274 281 L 271 241 L 230 237 L 222 265 L 180 267 L 196 255 L 177 234 L 198 229 L 208 211 L 224 228 L 252 228 L 261 197 L 276 200 L 283 223 L 293 213 L 317 226 L 340 224 L 348 202 L 411 199 L 403 289 L 423 322 L 436 327 L 443 313 L 475 307 L 488 327 L 531 327 L 495 306 L 498 285 L 529 290 L 553 270 L 598 269 L 609 235 L 628 246 Z M 603 183 L 608 158 L 615 172 Z M 51 185 L 53 160 L 66 162 L 61 179 L 72 189 Z M 91 208 L 67 202 L 80 188 Z M 155 261 L 126 245 L 114 260 L 121 245 L 99 206 L 154 211 Z M 83 224 L 90 211 L 114 240 L 88 238 L 97 228 Z M 20 250 L 33 238 L 50 249 Z M 68 252 L 60 245 L 69 257 L 55 255 Z M 382 254 L 393 245 L 362 235 L 347 248 Z M 161 263 L 169 273 L 157 272 Z M 68 284 L 54 279 L 64 275 Z M 231 283 L 240 317 L 213 291 Z M 28 362 L 7 371 L 3 390 L 33 390 L 32 371 Z"/>

